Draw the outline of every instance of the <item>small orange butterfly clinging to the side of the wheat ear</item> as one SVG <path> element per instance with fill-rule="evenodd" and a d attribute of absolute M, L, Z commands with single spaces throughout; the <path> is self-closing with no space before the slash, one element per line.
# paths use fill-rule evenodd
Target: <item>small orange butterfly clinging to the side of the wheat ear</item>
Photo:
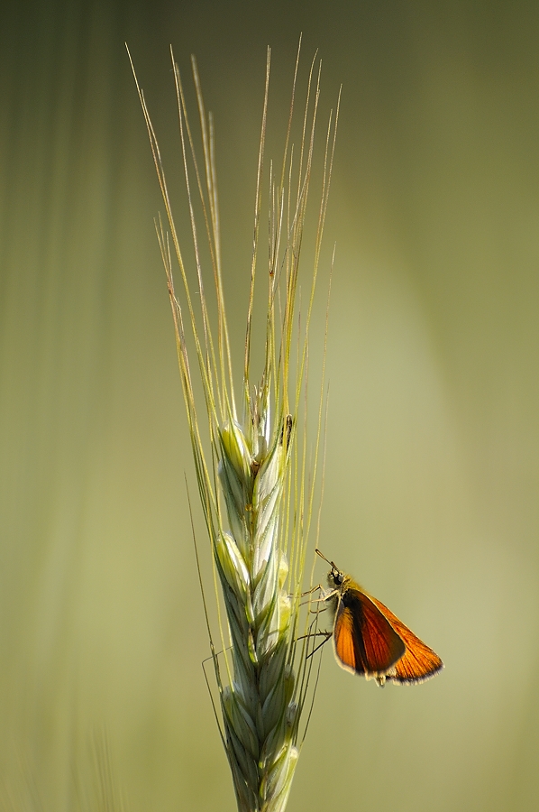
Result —
<path fill-rule="evenodd" d="M 374 678 L 379 685 L 387 679 L 397 685 L 412 685 L 443 669 L 438 655 L 387 606 L 368 595 L 320 550 L 316 553 L 331 567 L 327 576 L 330 590 L 322 600 L 333 610 L 333 649 L 343 669 Z"/>

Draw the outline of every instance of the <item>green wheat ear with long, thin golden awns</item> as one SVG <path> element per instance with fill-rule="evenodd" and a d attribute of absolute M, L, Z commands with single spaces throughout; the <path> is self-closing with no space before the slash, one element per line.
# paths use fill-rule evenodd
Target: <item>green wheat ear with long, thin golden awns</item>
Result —
<path fill-rule="evenodd" d="M 220 695 L 221 733 L 241 812 L 284 810 L 300 748 L 299 722 L 306 705 L 312 660 L 308 637 L 298 641 L 299 606 L 306 559 L 306 540 L 315 498 L 322 403 L 318 411 L 314 456 L 307 460 L 306 368 L 307 340 L 320 258 L 325 211 L 333 165 L 337 115 L 330 115 L 325 139 L 322 189 L 315 229 L 314 261 L 306 314 L 297 318 L 299 258 L 313 167 L 315 121 L 320 69 L 311 65 L 306 106 L 293 160 L 291 143 L 299 51 L 280 177 L 270 168 L 269 260 L 265 272 L 268 308 L 263 335 L 265 363 L 260 382 L 251 381 L 251 332 L 263 198 L 263 166 L 270 78 L 270 51 L 260 135 L 251 283 L 243 355 L 241 411 L 236 406 L 231 348 L 228 337 L 221 270 L 219 217 L 215 182 L 214 132 L 206 115 L 193 60 L 204 169 L 196 161 L 194 138 L 178 66 L 172 55 L 178 97 L 179 134 L 187 200 L 196 256 L 196 285 L 200 313 L 196 315 L 187 270 L 170 208 L 169 192 L 150 115 L 138 85 L 151 149 L 160 181 L 170 236 L 159 220 L 160 251 L 167 272 L 176 330 L 178 362 L 195 460 L 196 479 L 222 590 L 226 623 L 221 623 L 223 661 L 210 645 Z M 134 73 L 134 70 L 133 70 Z M 136 81 L 136 76 L 135 76 Z M 338 113 L 338 106 L 337 106 Z M 217 300 L 217 324 L 206 307 L 193 198 L 203 211 Z M 174 287 L 172 252 L 183 281 L 185 305 Z M 260 273 L 260 272 L 259 272 Z M 184 308 L 194 339 L 196 362 L 203 384 L 206 429 L 196 412 L 187 352 Z M 215 333 L 215 335 L 214 335 Z M 293 363 L 293 348 L 296 358 Z M 307 481 L 308 475 L 308 481 Z M 219 604 L 219 600 L 218 600 Z"/>

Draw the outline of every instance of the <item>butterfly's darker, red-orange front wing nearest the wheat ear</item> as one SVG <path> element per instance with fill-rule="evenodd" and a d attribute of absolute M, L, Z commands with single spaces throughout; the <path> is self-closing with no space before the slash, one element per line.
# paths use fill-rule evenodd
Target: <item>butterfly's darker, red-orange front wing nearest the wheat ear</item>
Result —
<path fill-rule="evenodd" d="M 343 669 L 366 678 L 384 676 L 405 653 L 405 643 L 360 589 L 339 598 L 333 625 L 335 656 Z"/>

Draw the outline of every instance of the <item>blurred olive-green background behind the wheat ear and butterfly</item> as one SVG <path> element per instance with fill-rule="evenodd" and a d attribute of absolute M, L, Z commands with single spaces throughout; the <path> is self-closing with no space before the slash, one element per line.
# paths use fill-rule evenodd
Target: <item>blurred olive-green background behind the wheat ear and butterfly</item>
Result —
<path fill-rule="evenodd" d="M 539 5 L 5 0 L 3 809 L 234 809 L 123 42 L 180 220 L 169 43 L 189 88 L 196 54 L 241 353 L 266 46 L 278 158 L 301 31 L 324 116 L 343 82 L 320 546 L 446 669 L 382 691 L 326 651 L 289 808 L 539 807 Z"/>

